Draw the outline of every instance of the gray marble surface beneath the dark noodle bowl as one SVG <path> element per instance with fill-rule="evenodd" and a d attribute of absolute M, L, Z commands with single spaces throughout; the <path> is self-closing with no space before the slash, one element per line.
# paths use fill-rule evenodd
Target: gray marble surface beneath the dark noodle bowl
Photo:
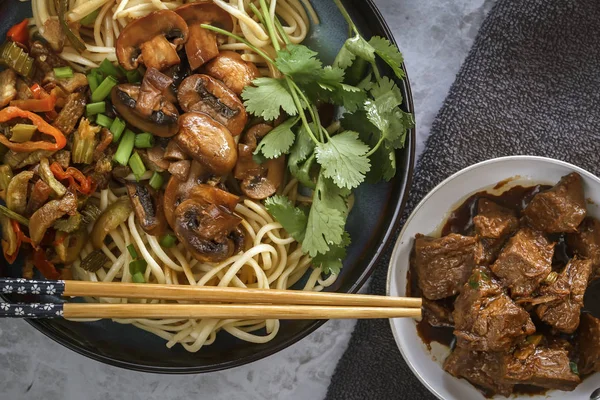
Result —
<path fill-rule="evenodd" d="M 375 1 L 406 59 L 420 153 L 494 0 Z M 321 399 L 353 327 L 330 321 L 276 355 L 228 371 L 161 376 L 89 360 L 23 321 L 1 320 L 0 399 Z"/>

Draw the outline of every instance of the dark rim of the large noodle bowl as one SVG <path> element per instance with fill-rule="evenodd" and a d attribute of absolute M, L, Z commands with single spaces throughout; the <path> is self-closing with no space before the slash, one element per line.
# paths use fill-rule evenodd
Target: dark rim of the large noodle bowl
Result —
<path fill-rule="evenodd" d="M 349 3 L 352 4 L 351 7 L 357 7 L 355 4 L 363 4 L 369 11 L 366 15 L 366 22 L 371 25 L 375 34 L 381 34 L 385 38 L 387 38 L 392 44 L 397 45 L 397 42 L 394 38 L 394 35 L 383 18 L 383 15 L 375 5 L 373 0 L 350 0 Z M 406 66 L 402 63 L 402 68 L 405 72 L 405 77 L 402 80 L 397 80 L 396 83 L 399 85 L 402 90 L 402 94 L 404 97 L 404 105 L 406 107 L 406 111 L 410 113 L 414 113 L 414 102 L 412 91 L 410 88 L 410 82 L 408 78 L 408 72 L 406 70 Z M 350 287 L 350 289 L 346 293 L 357 293 L 359 289 L 365 284 L 367 279 L 371 276 L 375 267 L 378 265 L 381 260 L 383 254 L 390 247 L 392 238 L 394 233 L 398 230 L 401 223 L 402 213 L 404 207 L 406 205 L 406 201 L 408 199 L 408 192 L 412 185 L 412 177 L 414 171 L 415 164 L 415 142 L 416 142 L 416 126 L 412 129 L 409 129 L 406 134 L 406 146 L 403 149 L 397 150 L 396 154 L 399 155 L 401 153 L 404 154 L 403 162 L 398 163 L 398 169 L 396 176 L 393 178 L 392 182 L 396 182 L 398 188 L 398 197 L 394 200 L 397 200 L 394 208 L 389 212 L 392 214 L 391 222 L 388 225 L 387 229 L 385 229 L 382 240 L 377 242 L 375 245 L 377 249 L 375 251 L 374 256 L 368 260 L 366 263 L 364 270 L 357 281 Z M 250 356 L 242 357 L 232 361 L 219 362 L 208 366 L 185 366 L 185 367 L 164 367 L 164 366 L 153 366 L 146 364 L 138 364 L 132 363 L 124 360 L 117 360 L 109 356 L 104 356 L 98 354 L 96 352 L 87 350 L 83 347 L 80 347 L 77 343 L 68 340 L 60 334 L 60 332 L 55 331 L 52 327 L 46 326 L 43 324 L 43 321 L 26 319 L 27 323 L 37 329 L 39 332 L 43 333 L 48 338 L 52 339 L 56 343 L 78 353 L 82 356 L 88 357 L 92 360 L 99 361 L 108 365 L 112 365 L 119 368 L 124 368 L 128 370 L 138 371 L 138 372 L 147 372 L 147 373 L 161 373 L 161 374 L 198 374 L 198 373 L 206 373 L 206 372 L 215 372 L 221 371 L 225 369 L 230 369 L 234 367 L 239 367 L 242 365 L 249 364 L 254 361 L 258 361 L 265 357 L 271 356 L 279 351 L 295 344 L 301 339 L 308 336 L 310 333 L 314 332 L 321 325 L 323 325 L 327 320 L 316 320 L 311 325 L 308 325 L 306 328 L 298 331 L 296 334 L 290 336 L 287 340 L 281 342 L 277 346 L 270 347 L 266 350 L 258 351 L 253 353 Z"/>

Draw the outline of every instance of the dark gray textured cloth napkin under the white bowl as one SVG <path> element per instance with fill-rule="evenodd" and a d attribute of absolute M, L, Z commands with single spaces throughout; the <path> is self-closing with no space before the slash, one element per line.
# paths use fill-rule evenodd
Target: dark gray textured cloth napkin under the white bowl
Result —
<path fill-rule="evenodd" d="M 454 172 L 517 154 L 600 172 L 599 0 L 498 0 L 433 124 L 404 217 Z M 371 293 L 385 293 L 390 253 Z M 389 322 L 358 321 L 327 400 L 433 398 Z"/>

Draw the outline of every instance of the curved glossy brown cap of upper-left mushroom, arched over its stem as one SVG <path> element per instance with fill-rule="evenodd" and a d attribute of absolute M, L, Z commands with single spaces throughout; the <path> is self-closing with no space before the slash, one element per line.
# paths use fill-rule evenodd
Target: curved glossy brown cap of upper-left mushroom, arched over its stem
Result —
<path fill-rule="evenodd" d="M 117 39 L 119 64 L 128 71 L 136 69 L 139 66 L 142 44 L 157 36 L 171 39 L 175 46 L 179 46 L 188 39 L 188 26 L 179 14 L 171 10 L 154 11 L 133 20 Z"/>

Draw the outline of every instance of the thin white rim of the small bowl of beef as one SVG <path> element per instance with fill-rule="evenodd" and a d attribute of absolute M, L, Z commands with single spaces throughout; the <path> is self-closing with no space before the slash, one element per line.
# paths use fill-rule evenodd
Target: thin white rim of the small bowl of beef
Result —
<path fill-rule="evenodd" d="M 423 197 L 423 199 L 421 199 L 421 201 L 419 201 L 419 204 L 417 204 L 417 206 L 414 208 L 414 210 L 410 213 L 410 216 L 406 219 L 406 222 L 402 226 L 402 230 L 400 231 L 400 234 L 398 235 L 396 243 L 394 244 L 394 250 L 392 251 L 392 255 L 390 257 L 390 263 L 388 265 L 388 273 L 387 273 L 387 278 L 386 278 L 386 290 L 385 290 L 386 296 L 390 295 L 391 285 L 392 285 L 392 272 L 395 271 L 395 269 L 393 267 L 395 265 L 394 260 L 396 260 L 397 253 L 400 251 L 399 248 L 400 248 L 401 239 L 404 236 L 407 227 L 410 225 L 410 222 L 420 212 L 421 208 L 423 208 L 423 206 L 425 205 L 427 200 L 429 200 L 429 198 L 432 197 L 442 187 L 448 185 L 449 183 L 454 181 L 456 178 L 458 178 L 459 176 L 461 176 L 469 171 L 481 168 L 481 167 L 489 165 L 489 164 L 505 163 L 505 162 L 510 162 L 510 161 L 541 161 L 544 163 L 560 165 L 563 167 L 567 167 L 581 175 L 585 175 L 586 177 L 596 181 L 600 185 L 599 177 L 597 177 L 596 175 L 592 174 L 591 172 L 589 172 L 581 167 L 578 167 L 578 166 L 568 163 L 566 161 L 557 160 L 557 159 L 550 158 L 550 157 L 531 156 L 531 155 L 516 155 L 516 156 L 504 156 L 504 157 L 492 158 L 489 160 L 480 161 L 476 164 L 470 165 L 466 168 L 463 168 L 463 169 L 455 172 L 454 174 L 450 175 L 449 177 L 444 179 L 442 182 L 437 184 L 433 189 L 431 189 L 425 195 L 425 197 Z M 429 392 L 431 392 L 433 395 L 435 395 L 438 399 L 444 400 L 443 396 L 440 393 L 438 393 L 435 390 L 435 388 L 433 388 L 433 386 L 431 386 L 429 384 L 429 382 L 425 379 L 424 376 L 422 376 L 419 373 L 419 371 L 417 371 L 417 369 L 415 368 L 413 363 L 410 361 L 408 355 L 405 353 L 404 348 L 402 346 L 400 346 L 400 344 L 399 344 L 399 333 L 396 330 L 393 319 L 390 318 L 388 321 L 390 324 L 390 328 L 392 329 L 392 334 L 394 336 L 394 342 L 396 342 L 396 347 L 398 347 L 398 350 L 400 350 L 400 354 L 402 354 L 402 358 L 404 358 L 404 361 L 409 366 L 413 375 L 415 375 L 419 379 L 419 381 L 423 384 L 423 386 L 425 386 L 427 388 L 427 390 L 429 390 Z"/>

